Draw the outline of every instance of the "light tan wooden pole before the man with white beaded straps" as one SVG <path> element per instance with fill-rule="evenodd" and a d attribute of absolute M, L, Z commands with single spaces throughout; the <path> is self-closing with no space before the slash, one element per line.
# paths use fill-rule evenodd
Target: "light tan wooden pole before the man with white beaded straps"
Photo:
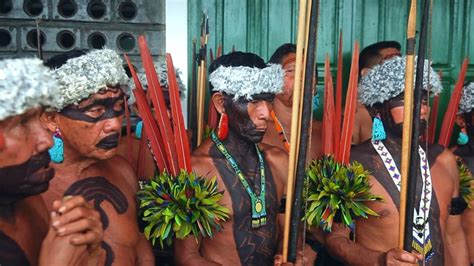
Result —
<path fill-rule="evenodd" d="M 416 34 L 416 0 L 411 1 L 410 13 L 407 27 L 407 56 L 405 68 L 405 97 L 403 115 L 403 136 L 402 136 L 402 162 L 401 175 L 402 184 L 400 188 L 400 217 L 398 228 L 398 247 L 403 249 L 405 236 L 405 216 L 406 198 L 408 185 L 408 167 L 410 162 L 411 131 L 413 120 L 413 74 L 414 74 L 414 54 L 415 54 L 415 34 Z M 412 210 L 410 210 L 412 211 Z"/>

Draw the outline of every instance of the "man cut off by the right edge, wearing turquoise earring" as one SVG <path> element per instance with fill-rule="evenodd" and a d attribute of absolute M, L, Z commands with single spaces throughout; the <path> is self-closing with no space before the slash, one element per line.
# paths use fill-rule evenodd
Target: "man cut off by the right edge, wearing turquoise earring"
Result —
<path fill-rule="evenodd" d="M 456 123 L 461 128 L 457 140 L 457 146 L 454 147 L 454 154 L 459 156 L 469 172 L 474 173 L 474 83 L 470 82 L 463 88 L 459 111 L 456 117 Z M 471 180 L 471 186 L 474 182 Z M 460 202 L 459 212 L 464 209 L 465 202 Z M 474 264 L 474 201 L 470 202 L 471 208 L 464 209 L 461 215 L 462 227 L 466 234 L 467 246 L 469 248 L 469 260 Z"/>

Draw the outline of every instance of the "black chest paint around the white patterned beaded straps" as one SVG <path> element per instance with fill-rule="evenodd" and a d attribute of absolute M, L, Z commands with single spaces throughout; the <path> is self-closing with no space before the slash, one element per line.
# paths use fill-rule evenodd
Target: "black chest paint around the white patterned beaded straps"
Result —
<path fill-rule="evenodd" d="M 380 159 L 379 155 L 373 148 L 371 140 L 368 140 L 360 145 L 355 146 L 351 152 L 351 161 L 358 161 L 365 169 L 369 170 L 372 176 L 385 188 L 387 193 L 390 195 L 393 203 L 400 208 L 400 192 L 393 183 L 392 178 L 387 172 L 384 163 Z M 401 165 L 401 140 L 398 142 L 391 139 L 390 135 L 387 135 L 387 140 L 383 142 L 387 149 L 390 151 L 395 163 L 398 167 Z M 424 147 L 423 144 L 421 144 Z M 437 144 L 429 147 L 429 153 L 427 153 L 428 162 L 430 168 L 435 164 L 436 158 L 443 152 L 443 148 Z M 422 180 L 420 172 L 417 175 L 417 191 L 416 191 L 416 206 L 420 203 Z M 434 255 L 426 265 L 444 265 L 444 243 L 443 235 L 441 233 L 440 226 L 440 210 L 439 204 L 436 197 L 436 192 L 433 189 L 433 195 L 430 207 L 430 234 L 431 243 L 433 245 Z M 411 240 L 410 240 L 411 241 Z"/>

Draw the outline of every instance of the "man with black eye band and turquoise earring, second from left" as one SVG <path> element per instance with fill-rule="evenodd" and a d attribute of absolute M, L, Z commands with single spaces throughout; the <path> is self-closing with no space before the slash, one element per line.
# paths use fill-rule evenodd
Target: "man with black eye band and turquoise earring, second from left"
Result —
<path fill-rule="evenodd" d="M 137 224 L 136 177 L 117 155 L 124 114 L 122 86 L 128 82 L 117 53 L 72 51 L 52 57 L 62 102 L 43 118 L 55 145 L 56 170 L 46 202 L 82 195 L 99 211 L 105 265 L 154 265 L 150 243 Z"/>

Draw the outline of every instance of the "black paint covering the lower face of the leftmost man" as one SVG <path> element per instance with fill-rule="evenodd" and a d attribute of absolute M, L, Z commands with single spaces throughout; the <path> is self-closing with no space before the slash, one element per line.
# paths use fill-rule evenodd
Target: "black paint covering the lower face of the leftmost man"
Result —
<path fill-rule="evenodd" d="M 46 191 L 54 177 L 50 161 L 48 151 L 44 151 L 21 165 L 0 168 L 0 204 L 11 204 Z"/>

